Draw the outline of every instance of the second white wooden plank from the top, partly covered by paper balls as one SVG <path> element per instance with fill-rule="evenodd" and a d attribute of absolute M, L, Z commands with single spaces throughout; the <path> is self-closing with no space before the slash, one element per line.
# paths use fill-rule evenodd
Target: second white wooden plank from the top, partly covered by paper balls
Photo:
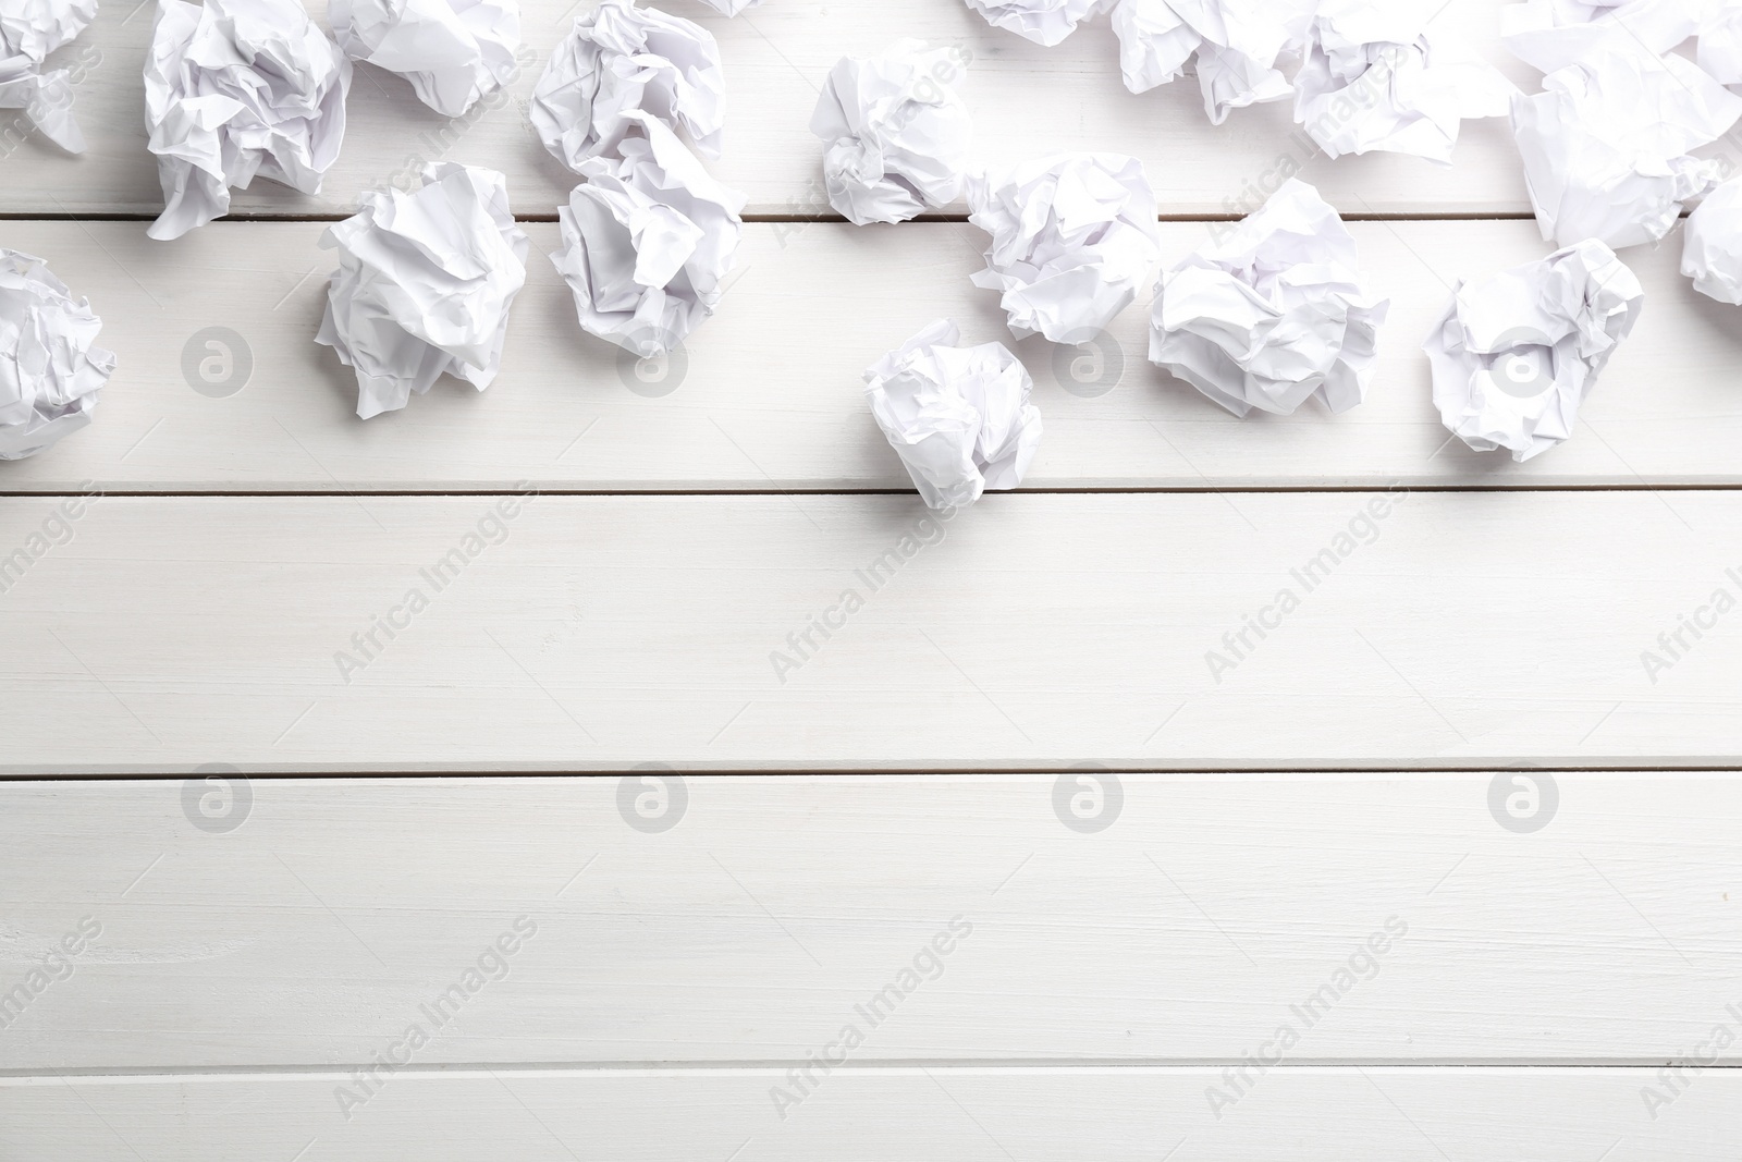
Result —
<path fill-rule="evenodd" d="M 167 249 L 139 223 L 7 223 L 105 319 L 120 371 L 96 423 L 0 465 L 7 491 L 840 490 L 911 484 L 864 404 L 861 373 L 932 319 L 967 341 L 1009 341 L 996 296 L 974 287 L 982 235 L 962 223 L 864 232 L 761 225 L 737 284 L 692 340 L 683 371 L 638 369 L 587 336 L 556 270 L 533 254 L 502 376 L 479 395 L 442 380 L 401 413 L 355 418 L 355 382 L 314 343 L 331 251 L 324 226 L 214 225 Z M 1529 223 L 1357 223 L 1392 298 L 1366 404 L 1341 416 L 1237 420 L 1146 361 L 1148 301 L 1125 310 L 1111 361 L 1071 380 L 1071 355 L 1017 343 L 1045 420 L 1030 488 L 1477 488 L 1735 484 L 1742 329 L 1697 294 L 1679 246 L 1629 251 L 1646 284 L 1620 348 L 1566 446 L 1514 465 L 1439 423 L 1421 338 L 1460 279 L 1529 261 Z M 556 228 L 530 226 L 540 251 Z M 1204 239 L 1169 225 L 1164 260 Z M 209 328 L 246 347 L 251 378 L 199 378 Z M 1061 357 L 1063 355 L 1063 357 Z M 1122 369 L 1120 369 L 1122 366 Z M 652 375 L 652 382 L 643 376 Z M 1101 388 L 1101 380 L 1106 388 Z M 1066 390 L 1063 383 L 1070 383 Z M 200 388 L 200 390 L 197 390 Z M 214 397 L 216 392 L 221 397 Z M 664 392 L 664 394 L 660 394 Z"/>

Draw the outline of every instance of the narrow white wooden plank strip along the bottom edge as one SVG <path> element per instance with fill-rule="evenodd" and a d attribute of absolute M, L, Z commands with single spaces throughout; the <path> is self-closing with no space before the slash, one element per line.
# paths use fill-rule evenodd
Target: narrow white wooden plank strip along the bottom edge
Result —
<path fill-rule="evenodd" d="M 1691 1077 L 1691 1075 L 1690 1075 Z M 343 1075 L 0 1082 L 17 1162 L 416 1157 L 469 1162 L 1728 1162 L 1742 1078 L 1707 1070 L 1651 1120 L 1646 1070 L 1275 1070 L 1221 1120 L 1216 1070 L 838 1070 L 784 1122 L 780 1075 L 409 1075 L 347 1122 Z"/>

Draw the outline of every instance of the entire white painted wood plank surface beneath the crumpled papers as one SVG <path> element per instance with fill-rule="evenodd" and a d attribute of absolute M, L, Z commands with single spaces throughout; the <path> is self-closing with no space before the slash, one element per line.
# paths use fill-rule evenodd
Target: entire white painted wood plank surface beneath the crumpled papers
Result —
<path fill-rule="evenodd" d="M 1456 0 L 1439 31 L 1533 85 L 1500 3 Z M 960 0 L 672 9 L 721 40 L 712 169 L 765 220 L 676 385 L 584 336 L 533 254 L 488 394 L 355 420 L 312 343 L 322 223 L 152 244 L 96 220 L 160 207 L 150 5 L 105 5 L 57 57 L 89 155 L 0 127 L 0 246 L 49 258 L 120 354 L 92 429 L 0 465 L 0 1159 L 1735 1159 L 1737 1071 L 1664 1071 L 1742 1033 L 1742 638 L 1728 613 L 1685 627 L 1742 598 L 1742 333 L 1676 274 L 1679 235 L 1624 254 L 1644 319 L 1575 439 L 1512 465 L 1448 444 L 1418 354 L 1456 279 L 1547 251 L 1502 120 L 1465 125 L 1451 169 L 1329 164 L 1287 106 L 1218 129 L 1192 82 L 1124 92 L 1104 19 L 1038 49 Z M 324 193 L 260 183 L 237 213 L 331 220 L 462 160 L 552 216 L 571 179 L 524 101 L 577 10 L 526 5 L 514 99 L 477 118 L 359 66 Z M 1138 303 L 1106 394 L 1016 345 L 1050 495 L 922 523 L 859 373 L 939 315 L 1007 340 L 967 282 L 984 237 L 803 221 L 827 216 L 817 85 L 901 37 L 974 54 L 982 162 L 1141 157 L 1192 220 L 1164 261 L 1296 164 L 1345 214 L 1415 218 L 1354 225 L 1394 298 L 1369 401 L 1233 420 L 1144 362 Z M 235 394 L 183 369 L 207 328 L 253 361 Z M 678 495 L 491 523 L 526 488 Z M 1144 495 L 1228 488 L 1258 491 Z M 841 495 L 862 490 L 899 495 Z M 247 495 L 279 491 L 308 495 Z M 456 549 L 437 591 L 423 570 Z M 892 549 L 873 592 L 855 570 Z M 1291 570 L 1320 551 L 1306 592 Z M 411 587 L 430 603 L 388 641 L 373 618 Z M 866 605 L 800 652 L 848 587 Z M 1259 639 L 1246 618 L 1284 587 L 1300 608 Z M 368 662 L 350 681 L 340 650 Z M 688 772 L 685 814 L 641 831 L 620 777 L 660 763 Z M 1078 833 L 1052 787 L 1096 763 L 1122 807 Z M 207 784 L 185 805 L 202 765 L 253 777 L 240 828 L 199 814 Z M 1552 780 L 1552 822 L 1503 828 L 1493 767 Z M 371 777 L 587 770 L 611 774 Z M 1198 774 L 1139 774 L 1165 770 Z M 162 777 L 113 777 L 139 774 Z M 519 916 L 538 930 L 507 974 L 343 1117 L 347 1073 Z M 942 976 L 782 1118 L 786 1068 L 953 916 L 974 930 Z M 1394 916 L 1374 976 L 1233 1089 Z M 101 936 L 38 990 L 85 918 Z"/>

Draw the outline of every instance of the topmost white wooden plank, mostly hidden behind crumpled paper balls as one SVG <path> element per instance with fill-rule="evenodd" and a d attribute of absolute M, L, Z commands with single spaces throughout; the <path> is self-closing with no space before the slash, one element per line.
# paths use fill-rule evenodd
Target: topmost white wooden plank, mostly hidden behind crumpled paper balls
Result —
<path fill-rule="evenodd" d="M 1502 0 L 1446 5 L 1435 28 L 1446 44 L 1479 49 L 1519 82 L 1536 77 L 1510 63 L 1496 44 Z M 573 178 L 538 143 L 524 106 L 550 51 L 566 35 L 578 3 L 530 0 L 523 7 L 524 68 L 512 99 L 448 120 L 413 98 L 411 87 L 373 66 L 359 66 L 347 105 L 340 160 L 315 197 L 260 181 L 232 202 L 246 214 L 347 214 L 357 193 L 416 172 L 422 164 L 460 160 L 509 176 L 521 214 L 554 216 Z M 310 14 L 326 19 L 326 3 Z M 810 134 L 810 111 L 829 68 L 841 56 L 869 56 L 904 37 L 960 44 L 974 54 L 962 92 L 974 110 L 984 164 L 1003 166 L 1064 150 L 1117 150 L 1148 164 L 1164 213 L 1239 211 L 1263 183 L 1289 167 L 1322 181 L 1347 213 L 1432 214 L 1528 213 L 1517 152 L 1503 118 L 1467 125 L 1456 166 L 1369 155 L 1334 166 L 1300 136 L 1287 105 L 1235 115 L 1221 127 L 1204 117 L 1195 82 L 1144 96 L 1125 92 L 1118 42 L 1106 19 L 1056 49 L 1031 45 L 989 28 L 962 0 L 878 0 L 831 3 L 779 0 L 726 19 L 690 2 L 672 10 L 711 28 L 721 42 L 728 84 L 726 153 L 714 172 L 744 190 L 756 214 L 829 213 L 820 192 L 822 143 Z M 0 213 L 157 214 L 162 192 L 146 150 L 141 70 L 153 7 L 132 0 L 105 3 L 96 24 L 57 54 L 78 66 L 77 113 L 89 153 L 70 157 L 35 136 L 17 139 L 7 157 Z M 1186 164 L 1190 162 L 1190 164 Z M 962 206 L 955 207 L 962 211 Z"/>

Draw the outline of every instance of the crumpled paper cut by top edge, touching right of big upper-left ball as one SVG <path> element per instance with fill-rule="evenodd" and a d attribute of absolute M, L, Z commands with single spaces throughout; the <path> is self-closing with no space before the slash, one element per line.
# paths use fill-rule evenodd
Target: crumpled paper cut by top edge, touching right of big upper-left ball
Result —
<path fill-rule="evenodd" d="M 331 0 L 327 19 L 345 56 L 404 77 L 444 117 L 505 85 L 521 47 L 516 0 Z"/>

